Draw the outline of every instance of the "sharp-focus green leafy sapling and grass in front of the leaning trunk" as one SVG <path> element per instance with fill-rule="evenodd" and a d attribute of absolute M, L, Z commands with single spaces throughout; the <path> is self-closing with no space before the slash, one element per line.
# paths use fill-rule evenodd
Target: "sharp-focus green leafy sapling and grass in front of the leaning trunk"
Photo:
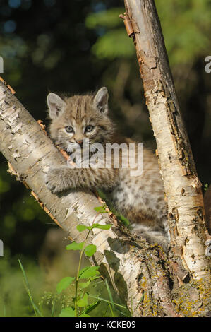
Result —
<path fill-rule="evenodd" d="M 59 283 L 57 283 L 56 292 L 57 292 L 58 296 L 61 295 L 61 292 L 63 292 L 64 290 L 67 290 L 68 287 L 70 287 L 70 286 L 74 287 L 74 297 L 72 299 L 73 301 L 71 301 L 71 302 L 68 301 L 68 307 L 64 307 L 64 305 L 61 305 L 61 307 L 63 307 L 63 309 L 61 309 L 61 312 L 59 314 L 60 317 L 90 317 L 90 312 L 92 312 L 92 310 L 94 310 L 96 307 L 98 307 L 98 305 L 101 302 L 105 302 L 108 304 L 108 307 L 111 312 L 111 316 L 115 316 L 114 307 L 115 307 L 116 312 L 119 312 L 119 314 L 121 314 L 121 316 L 126 316 L 126 315 L 130 316 L 130 313 L 127 311 L 127 308 L 125 306 L 114 302 L 113 297 L 111 295 L 111 290 L 109 288 L 109 284 L 107 283 L 107 280 L 105 280 L 105 286 L 107 289 L 107 293 L 109 295 L 109 300 L 106 300 L 103 297 L 96 296 L 95 294 L 90 294 L 90 292 L 88 292 L 88 287 L 91 285 L 91 283 L 94 280 L 100 278 L 100 272 L 98 271 L 99 266 L 85 266 L 84 268 L 81 268 L 83 254 L 85 254 L 85 256 L 91 257 L 93 254 L 95 254 L 95 252 L 97 250 L 97 247 L 95 246 L 95 244 L 88 244 L 88 238 L 89 238 L 90 232 L 94 228 L 98 228 L 100 230 L 109 230 L 109 228 L 111 227 L 111 225 L 100 225 L 99 223 L 95 223 L 97 215 L 99 215 L 100 213 L 107 212 L 106 205 L 96 207 L 95 211 L 97 212 L 97 214 L 95 215 L 92 225 L 86 226 L 86 225 L 80 224 L 77 226 L 77 230 L 79 232 L 88 231 L 87 235 L 85 235 L 84 241 L 80 242 L 80 243 L 72 242 L 71 244 L 68 244 L 68 246 L 66 246 L 66 250 L 73 250 L 73 251 L 79 250 L 80 258 L 78 261 L 78 271 L 76 273 L 76 277 L 68 276 L 68 277 L 61 279 L 59 281 Z M 28 297 L 30 299 L 30 303 L 32 304 L 32 308 L 35 313 L 35 316 L 42 317 L 42 316 L 44 316 L 44 314 L 42 312 L 42 303 L 44 303 L 45 297 L 39 303 L 40 304 L 40 309 L 39 309 L 38 306 L 35 304 L 35 301 L 33 300 L 32 292 L 30 290 L 30 285 L 29 285 L 25 270 L 23 268 L 23 265 L 20 262 L 20 260 L 18 260 L 18 261 L 19 261 L 20 268 L 21 268 L 21 271 L 22 271 L 23 277 L 24 277 L 23 283 L 25 285 L 25 290 L 28 293 Z M 96 283 L 95 283 L 95 285 L 96 285 Z M 63 302 L 61 299 L 59 299 L 58 296 L 55 297 L 52 294 L 47 295 L 47 298 L 50 298 L 50 302 L 52 304 L 51 316 L 55 316 L 56 304 L 58 304 L 59 302 Z M 90 303 L 90 301 L 89 301 L 90 299 L 95 300 L 95 301 Z M 49 303 L 49 300 L 47 301 L 47 303 Z M 73 305 L 72 305 L 72 303 L 73 303 Z M 121 312 L 116 307 L 119 307 L 119 309 L 123 309 L 123 311 L 126 313 Z"/>

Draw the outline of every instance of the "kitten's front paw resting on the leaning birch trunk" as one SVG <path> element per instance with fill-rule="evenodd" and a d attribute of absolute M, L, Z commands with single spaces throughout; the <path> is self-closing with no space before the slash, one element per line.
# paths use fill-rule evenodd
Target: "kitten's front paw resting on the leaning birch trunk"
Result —
<path fill-rule="evenodd" d="M 49 172 L 46 174 L 44 180 L 47 188 L 54 194 L 66 189 L 64 186 L 62 172 L 59 168 L 49 168 Z"/>

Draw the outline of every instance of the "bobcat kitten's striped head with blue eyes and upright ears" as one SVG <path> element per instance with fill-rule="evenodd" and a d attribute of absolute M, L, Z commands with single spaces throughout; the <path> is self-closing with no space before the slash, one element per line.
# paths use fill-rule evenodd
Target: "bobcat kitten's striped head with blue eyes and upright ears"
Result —
<path fill-rule="evenodd" d="M 67 151 L 81 144 L 85 138 L 89 138 L 90 144 L 111 141 L 114 125 L 107 116 L 107 101 L 107 88 L 101 88 L 95 97 L 75 95 L 64 100 L 50 93 L 47 103 L 52 119 L 52 138 Z"/>

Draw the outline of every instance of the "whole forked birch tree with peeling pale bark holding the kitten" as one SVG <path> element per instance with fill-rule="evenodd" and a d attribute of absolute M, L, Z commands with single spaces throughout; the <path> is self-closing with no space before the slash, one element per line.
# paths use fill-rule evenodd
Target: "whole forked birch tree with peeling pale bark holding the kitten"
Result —
<path fill-rule="evenodd" d="M 164 187 L 169 204 L 172 250 L 169 259 L 158 246 L 132 237 L 114 216 L 97 216 L 98 223 L 114 223 L 110 230 L 94 230 L 97 246 L 92 258 L 133 316 L 207 316 L 210 305 L 209 262 L 205 256 L 205 225 L 200 182 L 188 144 L 162 32 L 152 0 L 126 1 L 131 18 L 145 97 L 157 139 Z M 90 191 L 56 196 L 44 186 L 49 166 L 66 160 L 53 146 L 11 91 L 0 83 L 0 150 L 32 189 L 42 207 L 76 241 L 100 206 Z"/>

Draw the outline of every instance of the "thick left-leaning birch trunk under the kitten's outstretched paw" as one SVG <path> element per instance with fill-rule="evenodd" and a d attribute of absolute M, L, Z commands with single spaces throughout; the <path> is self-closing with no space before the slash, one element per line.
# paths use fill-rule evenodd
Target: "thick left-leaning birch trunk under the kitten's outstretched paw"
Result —
<path fill-rule="evenodd" d="M 91 191 L 66 191 L 65 194 L 52 194 L 44 185 L 44 175 L 52 165 L 64 165 L 64 156 L 44 134 L 41 126 L 12 95 L 4 83 L 0 82 L 0 150 L 11 164 L 11 172 L 30 188 L 32 195 L 53 220 L 58 223 L 76 242 L 84 239 L 83 233 L 76 230 L 78 223 L 90 225 L 96 217 L 94 208 L 102 203 Z M 96 223 L 117 222 L 111 213 L 103 213 L 95 218 Z M 114 290 L 126 302 L 133 316 L 140 316 L 140 310 L 150 315 L 150 303 L 154 303 L 155 316 L 176 316 L 173 304 L 162 309 L 159 292 L 153 299 L 151 287 L 164 287 L 170 294 L 169 272 L 165 266 L 166 256 L 156 246 L 145 242 L 135 242 L 121 225 L 110 230 L 94 229 L 90 242 L 97 246 L 92 262 L 100 265 L 102 274 L 110 281 Z M 155 285 L 148 278 L 160 275 Z M 139 281 L 145 280 L 145 290 Z M 162 286 L 163 285 L 163 286 Z M 145 297 L 143 298 L 143 292 Z M 141 300 L 141 302 L 140 302 Z M 154 314 L 153 314 L 154 315 Z"/>

